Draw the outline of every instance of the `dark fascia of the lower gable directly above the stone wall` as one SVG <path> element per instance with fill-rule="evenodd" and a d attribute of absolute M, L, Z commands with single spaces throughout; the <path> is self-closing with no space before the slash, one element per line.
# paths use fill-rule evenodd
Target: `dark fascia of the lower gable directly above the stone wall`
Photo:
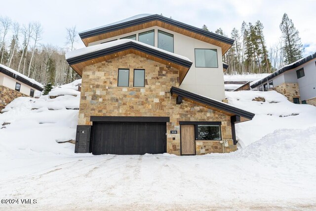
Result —
<path fill-rule="evenodd" d="M 105 49 L 101 49 L 98 51 L 94 51 L 94 52 L 90 52 L 90 53 L 86 53 L 80 56 L 76 56 L 73 58 L 69 58 L 67 59 L 67 62 L 69 65 L 73 65 L 73 64 L 77 64 L 80 62 L 84 62 L 90 59 L 94 59 L 94 58 L 98 58 L 100 56 L 105 56 L 105 55 L 109 55 L 109 54 L 113 54 L 113 53 L 117 53 L 119 51 L 123 51 L 123 50 L 127 50 L 133 48 L 135 50 L 139 50 L 142 51 L 144 53 L 150 54 L 152 56 L 156 56 L 158 58 L 170 61 L 172 63 L 176 63 L 178 65 L 190 68 L 192 66 L 192 62 L 178 58 L 176 56 L 161 52 L 159 50 L 153 49 L 151 47 L 147 47 L 144 46 L 142 44 L 138 44 L 135 42 L 125 42 L 116 46 L 112 46 L 112 47 L 108 47 Z"/>

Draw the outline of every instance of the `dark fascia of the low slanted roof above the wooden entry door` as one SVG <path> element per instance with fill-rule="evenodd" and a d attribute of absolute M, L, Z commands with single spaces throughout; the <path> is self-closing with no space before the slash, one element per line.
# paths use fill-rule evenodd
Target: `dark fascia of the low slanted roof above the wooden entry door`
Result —
<path fill-rule="evenodd" d="M 189 91 L 186 91 L 186 90 L 174 87 L 174 86 L 171 87 L 170 92 L 171 92 L 171 95 L 173 93 L 175 93 L 175 94 L 180 95 L 182 97 L 187 97 L 187 98 L 192 99 L 194 101 L 197 101 L 199 103 L 203 103 L 205 105 L 209 105 L 209 106 L 215 107 L 219 110 L 226 111 L 226 112 L 229 112 L 229 113 L 241 116 L 241 117 L 245 117 L 245 118 L 250 119 L 250 120 L 252 120 L 252 118 L 255 116 L 255 114 L 253 114 L 251 112 L 236 108 L 234 106 L 219 102 L 217 100 L 213 100 L 211 98 L 203 97 L 201 95 L 198 95 L 198 94 L 195 94 L 195 93 L 192 93 L 192 92 L 189 92 Z"/>

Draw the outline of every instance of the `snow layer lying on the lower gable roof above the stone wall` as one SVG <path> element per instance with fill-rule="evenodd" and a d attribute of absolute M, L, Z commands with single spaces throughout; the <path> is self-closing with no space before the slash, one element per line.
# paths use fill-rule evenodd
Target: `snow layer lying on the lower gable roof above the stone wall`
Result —
<path fill-rule="evenodd" d="M 124 44 L 126 42 L 135 42 L 137 44 L 144 45 L 146 47 L 158 50 L 160 52 L 169 54 L 171 56 L 175 56 L 175 57 L 178 57 L 180 59 L 192 62 L 190 59 L 188 59 L 185 56 L 181 56 L 181 55 L 176 54 L 176 53 L 171 53 L 169 51 L 162 50 L 162 49 L 160 49 L 158 47 L 154 47 L 152 45 L 145 44 L 143 42 L 134 41 L 134 40 L 131 40 L 131 39 L 122 39 L 122 40 L 106 42 L 106 43 L 102 43 L 102 44 L 97 44 L 97 45 L 92 45 L 92 46 L 88 46 L 88 47 L 79 48 L 77 50 L 73 50 L 73 51 L 67 52 L 66 53 L 66 59 L 74 58 L 74 57 L 81 56 L 81 55 L 84 55 L 84 54 L 87 54 L 87 53 L 92 53 L 92 52 L 95 52 L 95 51 L 98 51 L 98 50 L 103 50 L 103 49 L 106 49 L 106 48 L 109 48 L 109 47 L 113 47 L 113 46 L 116 46 L 116 45 L 119 45 L 119 44 Z"/>

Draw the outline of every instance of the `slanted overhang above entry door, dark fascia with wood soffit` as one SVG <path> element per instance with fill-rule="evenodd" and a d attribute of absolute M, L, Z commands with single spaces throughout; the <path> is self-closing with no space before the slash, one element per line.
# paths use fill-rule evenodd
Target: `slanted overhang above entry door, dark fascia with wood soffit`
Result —
<path fill-rule="evenodd" d="M 255 114 L 248 111 L 236 108 L 227 103 L 223 103 L 211 98 L 203 97 L 201 95 L 177 88 L 172 86 L 170 89 L 171 95 L 177 97 L 177 104 L 180 104 L 182 100 L 197 104 L 199 106 L 211 109 L 228 116 L 236 116 L 235 123 L 245 122 L 252 120 Z M 233 119 L 234 119 L 233 118 Z"/>

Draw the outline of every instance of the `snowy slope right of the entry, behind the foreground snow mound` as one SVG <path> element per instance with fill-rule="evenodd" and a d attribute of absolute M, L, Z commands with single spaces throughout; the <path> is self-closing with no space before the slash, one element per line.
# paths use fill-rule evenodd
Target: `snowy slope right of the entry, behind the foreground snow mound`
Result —
<path fill-rule="evenodd" d="M 316 124 L 315 106 L 291 103 L 276 91 L 226 91 L 225 94 L 229 104 L 255 114 L 252 121 L 236 124 L 237 139 L 241 147 L 276 129 L 306 128 Z M 253 101 L 255 97 L 264 97 L 265 102 Z"/>

